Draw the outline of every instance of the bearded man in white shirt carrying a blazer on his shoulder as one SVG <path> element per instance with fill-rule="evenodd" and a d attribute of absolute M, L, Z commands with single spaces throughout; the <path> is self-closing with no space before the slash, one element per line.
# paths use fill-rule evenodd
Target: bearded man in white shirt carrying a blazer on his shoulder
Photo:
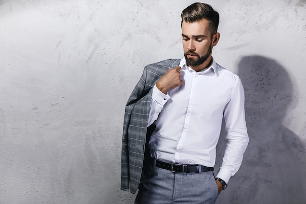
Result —
<path fill-rule="evenodd" d="M 135 204 L 214 204 L 248 144 L 240 78 L 212 57 L 218 12 L 194 3 L 181 17 L 184 58 L 146 66 L 126 106 L 121 189 L 139 189 Z M 228 142 L 215 178 L 222 118 Z"/>

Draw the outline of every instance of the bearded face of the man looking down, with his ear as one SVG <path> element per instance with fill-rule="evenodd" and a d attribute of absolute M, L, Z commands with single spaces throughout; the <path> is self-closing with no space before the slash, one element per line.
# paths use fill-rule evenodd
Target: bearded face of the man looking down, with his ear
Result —
<path fill-rule="evenodd" d="M 206 68 L 211 63 L 214 45 L 217 45 L 219 33 L 211 37 L 208 21 L 203 19 L 194 23 L 182 23 L 184 56 L 191 68 Z"/>

